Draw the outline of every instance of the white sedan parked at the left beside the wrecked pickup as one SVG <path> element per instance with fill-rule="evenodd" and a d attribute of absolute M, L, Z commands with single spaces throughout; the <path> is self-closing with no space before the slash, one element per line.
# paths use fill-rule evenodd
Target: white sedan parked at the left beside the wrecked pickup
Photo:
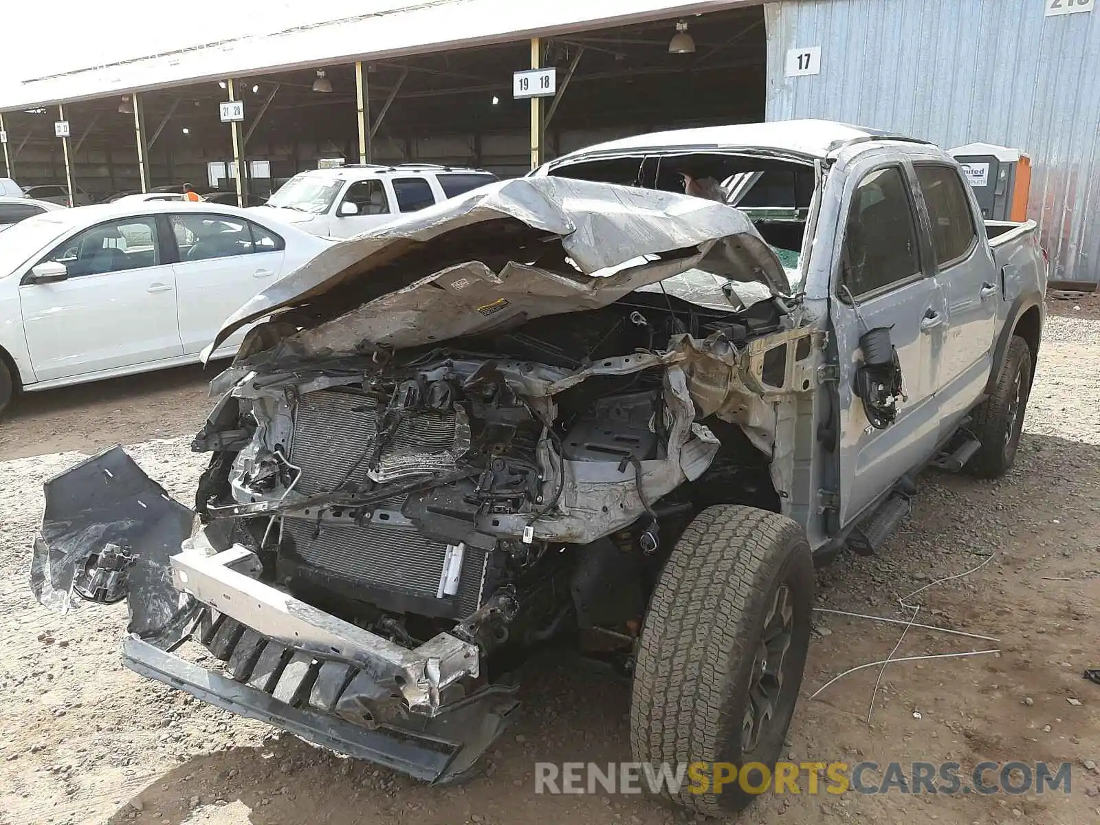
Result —
<path fill-rule="evenodd" d="M 199 361 L 227 316 L 331 243 L 216 204 L 120 201 L 16 223 L 0 234 L 0 409 L 20 389 Z"/>

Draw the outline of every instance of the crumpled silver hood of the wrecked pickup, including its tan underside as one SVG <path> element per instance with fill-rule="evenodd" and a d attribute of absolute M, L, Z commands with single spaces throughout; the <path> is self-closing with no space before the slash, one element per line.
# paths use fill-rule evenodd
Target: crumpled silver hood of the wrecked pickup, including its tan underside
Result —
<path fill-rule="evenodd" d="M 760 282 L 772 294 L 790 290 L 774 251 L 732 207 L 569 178 L 503 180 L 324 250 L 230 316 L 204 355 L 286 307 L 326 305 L 328 322 L 299 333 L 314 339 L 306 349 L 322 349 L 338 316 L 343 340 L 324 349 L 350 351 L 364 342 L 399 348 L 477 332 L 516 315 L 592 309 L 690 268 Z M 471 294 L 480 295 L 466 307 L 470 318 L 452 319 L 444 333 L 431 310 L 448 300 L 464 306 L 466 296 L 459 295 L 474 282 L 479 288 Z M 348 317 L 356 308 L 366 328 Z M 388 334 L 372 334 L 380 332 L 370 329 L 372 321 L 397 320 L 395 312 L 402 318 L 396 327 L 385 324 Z M 420 332 L 394 336 L 400 327 Z"/>

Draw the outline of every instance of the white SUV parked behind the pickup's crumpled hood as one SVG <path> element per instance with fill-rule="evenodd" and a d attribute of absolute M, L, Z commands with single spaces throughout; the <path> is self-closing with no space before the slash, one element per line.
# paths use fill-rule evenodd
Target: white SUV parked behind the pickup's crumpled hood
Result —
<path fill-rule="evenodd" d="M 496 179 L 492 172 L 433 164 L 312 169 L 295 175 L 251 210 L 315 235 L 351 238 Z"/>

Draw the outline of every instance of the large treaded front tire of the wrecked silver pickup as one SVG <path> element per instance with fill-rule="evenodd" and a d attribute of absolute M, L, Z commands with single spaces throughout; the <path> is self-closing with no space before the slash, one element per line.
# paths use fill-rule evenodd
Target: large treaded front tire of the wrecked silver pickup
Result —
<path fill-rule="evenodd" d="M 781 585 L 793 608 L 782 686 L 767 735 L 743 752 L 756 654 Z M 761 762 L 772 770 L 802 683 L 813 594 L 813 559 L 798 524 L 741 505 L 700 513 L 672 550 L 642 626 L 630 703 L 635 760 L 673 770 L 697 761 Z M 662 794 L 710 816 L 739 811 L 755 798 L 736 782 L 721 794 L 693 793 L 689 785 L 685 776 L 679 792 Z"/>

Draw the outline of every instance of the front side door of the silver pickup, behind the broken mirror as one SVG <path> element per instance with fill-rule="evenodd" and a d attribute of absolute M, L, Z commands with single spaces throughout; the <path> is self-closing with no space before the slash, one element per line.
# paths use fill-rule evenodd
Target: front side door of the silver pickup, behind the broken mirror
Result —
<path fill-rule="evenodd" d="M 936 359 L 947 308 L 926 260 L 905 164 L 857 163 L 843 204 L 829 314 L 839 356 L 838 515 L 846 526 L 936 449 Z M 860 337 L 878 328 L 889 329 L 903 391 L 895 419 L 883 429 L 855 393 Z"/>

